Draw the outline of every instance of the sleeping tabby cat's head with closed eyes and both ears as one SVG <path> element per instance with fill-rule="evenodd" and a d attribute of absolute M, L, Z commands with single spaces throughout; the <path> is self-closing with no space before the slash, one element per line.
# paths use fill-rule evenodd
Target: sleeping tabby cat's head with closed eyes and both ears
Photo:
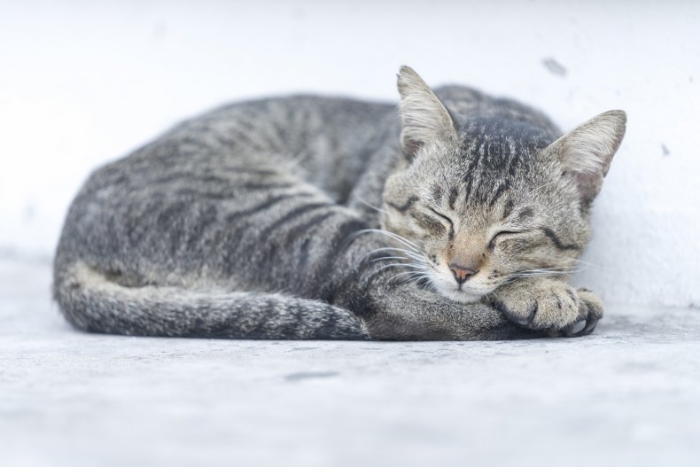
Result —
<path fill-rule="evenodd" d="M 403 158 L 385 183 L 382 227 L 406 242 L 404 276 L 471 302 L 517 277 L 575 269 L 626 114 L 556 138 L 534 111 L 498 99 L 458 119 L 408 66 L 398 87 Z"/>

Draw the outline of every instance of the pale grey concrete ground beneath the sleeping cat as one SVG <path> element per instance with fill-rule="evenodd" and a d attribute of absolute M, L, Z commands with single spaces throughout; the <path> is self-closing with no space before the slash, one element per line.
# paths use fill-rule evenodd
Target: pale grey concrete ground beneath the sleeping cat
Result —
<path fill-rule="evenodd" d="M 88 335 L 0 261 L 0 465 L 700 465 L 700 311 L 583 339 Z"/>

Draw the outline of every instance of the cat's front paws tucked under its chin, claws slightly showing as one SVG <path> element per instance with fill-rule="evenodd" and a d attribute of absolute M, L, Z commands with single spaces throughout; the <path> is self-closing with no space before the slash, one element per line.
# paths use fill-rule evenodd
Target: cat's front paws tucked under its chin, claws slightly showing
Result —
<path fill-rule="evenodd" d="M 510 321 L 552 337 L 585 336 L 603 317 L 603 304 L 592 292 L 544 278 L 509 284 L 495 292 L 492 304 Z"/>

